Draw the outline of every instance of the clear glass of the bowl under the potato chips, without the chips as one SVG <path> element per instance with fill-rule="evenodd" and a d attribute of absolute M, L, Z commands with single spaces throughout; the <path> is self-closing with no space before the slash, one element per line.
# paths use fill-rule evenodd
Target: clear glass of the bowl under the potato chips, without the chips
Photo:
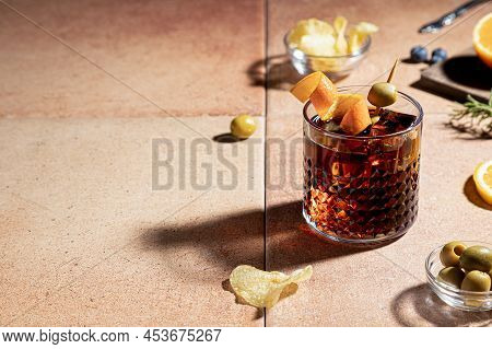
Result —
<path fill-rule="evenodd" d="M 294 69 L 301 74 L 306 75 L 314 71 L 323 71 L 328 78 L 339 80 L 350 74 L 360 62 L 365 58 L 371 47 L 371 36 L 367 35 L 361 48 L 345 56 L 314 56 L 307 55 L 298 48 L 289 45 L 289 31 L 283 37 L 285 49 Z"/>

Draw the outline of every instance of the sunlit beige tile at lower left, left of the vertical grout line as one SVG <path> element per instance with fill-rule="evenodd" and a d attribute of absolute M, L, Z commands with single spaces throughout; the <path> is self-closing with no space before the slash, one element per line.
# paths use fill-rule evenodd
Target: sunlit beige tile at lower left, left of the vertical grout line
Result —
<path fill-rule="evenodd" d="M 204 140 L 171 118 L 0 120 L 0 324 L 262 325 L 222 284 L 263 265 L 262 120 L 256 138 L 211 141 L 230 119 L 186 118 Z M 174 183 L 152 189 L 164 137 Z"/>

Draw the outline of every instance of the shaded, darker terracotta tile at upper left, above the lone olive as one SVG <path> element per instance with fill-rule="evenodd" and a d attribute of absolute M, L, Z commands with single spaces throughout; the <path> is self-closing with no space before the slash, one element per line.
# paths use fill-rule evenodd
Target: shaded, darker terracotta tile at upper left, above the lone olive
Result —
<path fill-rule="evenodd" d="M 5 3 L 0 116 L 263 114 L 262 1 Z"/>

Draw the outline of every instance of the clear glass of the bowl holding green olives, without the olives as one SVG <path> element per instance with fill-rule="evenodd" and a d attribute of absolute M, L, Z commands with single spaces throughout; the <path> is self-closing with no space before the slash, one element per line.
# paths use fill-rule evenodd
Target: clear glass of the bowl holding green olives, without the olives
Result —
<path fill-rule="evenodd" d="M 478 241 L 464 241 L 467 246 L 485 246 L 492 248 L 491 244 Z M 468 312 L 487 312 L 492 310 L 492 291 L 471 292 L 456 289 L 447 283 L 437 280 L 437 275 L 444 268 L 440 259 L 440 246 L 434 249 L 425 260 L 425 271 L 429 286 L 432 291 L 446 304 Z"/>

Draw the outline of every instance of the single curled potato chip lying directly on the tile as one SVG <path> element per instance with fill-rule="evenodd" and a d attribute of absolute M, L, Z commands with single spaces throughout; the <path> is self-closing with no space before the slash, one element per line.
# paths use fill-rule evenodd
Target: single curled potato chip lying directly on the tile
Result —
<path fill-rule="evenodd" d="M 284 290 L 291 290 L 292 283 L 308 280 L 313 267 L 307 266 L 288 276 L 280 271 L 263 271 L 251 266 L 238 266 L 230 276 L 231 287 L 241 300 L 256 307 L 270 309 L 277 304 Z"/>

